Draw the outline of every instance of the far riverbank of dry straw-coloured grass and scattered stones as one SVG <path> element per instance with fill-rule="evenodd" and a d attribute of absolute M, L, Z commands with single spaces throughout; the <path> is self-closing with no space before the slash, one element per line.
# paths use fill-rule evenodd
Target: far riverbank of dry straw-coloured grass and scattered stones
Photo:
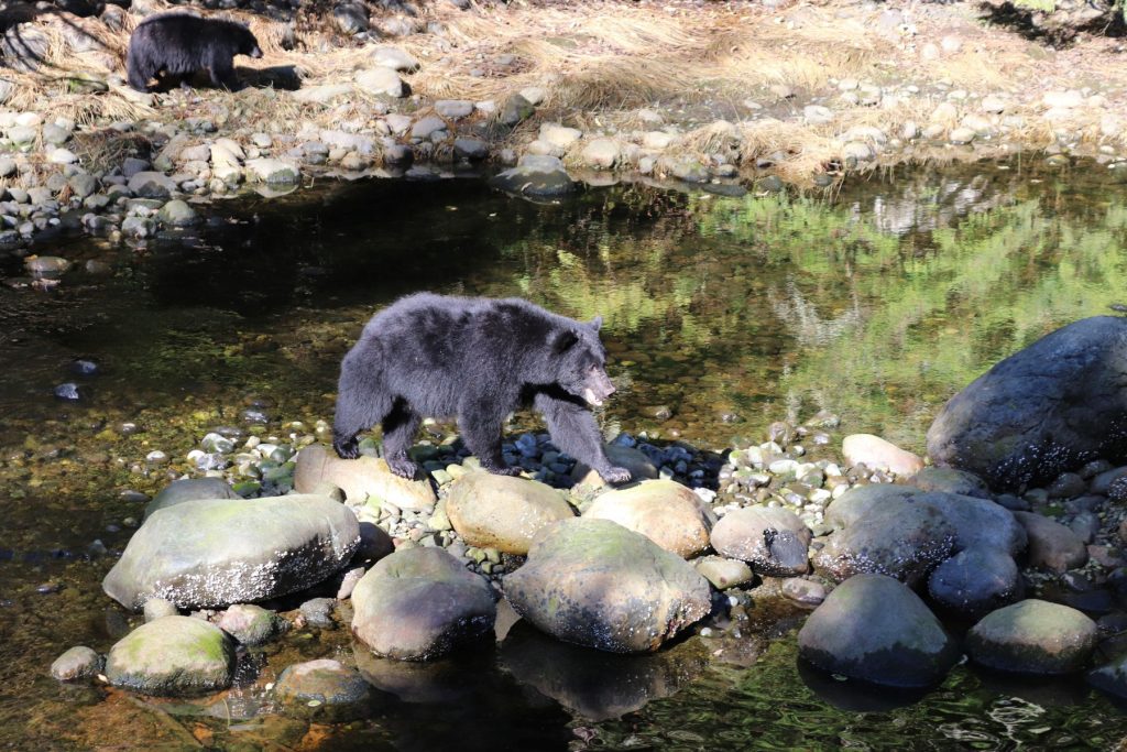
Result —
<path fill-rule="evenodd" d="M 530 154 L 559 158 L 593 184 L 725 193 L 1023 152 L 1062 168 L 1075 156 L 1127 163 L 1127 89 L 1117 83 L 1127 64 L 1119 42 L 1076 30 L 1102 18 L 1084 8 L 240 9 L 228 15 L 265 52 L 236 60 L 246 88 L 134 91 L 123 80 L 130 32 L 171 8 L 6 11 L 0 244 L 19 247 L 69 214 L 114 240 L 143 239 L 196 221 L 179 203 L 160 215 L 169 200 L 273 195 L 323 177 L 497 171 Z"/>

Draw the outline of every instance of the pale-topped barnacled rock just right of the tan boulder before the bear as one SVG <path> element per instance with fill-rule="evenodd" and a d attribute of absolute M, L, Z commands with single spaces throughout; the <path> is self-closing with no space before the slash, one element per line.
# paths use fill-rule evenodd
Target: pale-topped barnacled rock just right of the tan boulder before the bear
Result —
<path fill-rule="evenodd" d="M 758 574 L 793 577 L 810 568 L 810 529 L 790 510 L 746 506 L 720 517 L 712 548 L 747 561 Z"/>

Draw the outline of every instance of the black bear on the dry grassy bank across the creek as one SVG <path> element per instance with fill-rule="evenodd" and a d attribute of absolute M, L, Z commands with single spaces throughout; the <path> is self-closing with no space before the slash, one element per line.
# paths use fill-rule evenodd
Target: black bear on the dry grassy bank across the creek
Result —
<path fill-rule="evenodd" d="M 130 86 L 149 91 L 149 80 L 163 71 L 183 81 L 204 68 L 212 83 L 234 90 L 239 86 L 232 63 L 236 55 L 261 57 L 250 29 L 222 18 L 162 14 L 144 19 L 130 36 L 125 56 Z"/>

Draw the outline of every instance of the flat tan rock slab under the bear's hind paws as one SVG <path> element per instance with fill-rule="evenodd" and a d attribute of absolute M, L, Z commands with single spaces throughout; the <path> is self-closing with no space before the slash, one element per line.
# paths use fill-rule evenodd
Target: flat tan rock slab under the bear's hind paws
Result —
<path fill-rule="evenodd" d="M 401 510 L 429 512 L 438 501 L 429 483 L 400 478 L 383 459 L 343 460 L 322 444 L 310 444 L 298 454 L 293 487 L 299 494 L 311 494 L 325 481 L 345 492 L 349 502 L 372 497 Z"/>

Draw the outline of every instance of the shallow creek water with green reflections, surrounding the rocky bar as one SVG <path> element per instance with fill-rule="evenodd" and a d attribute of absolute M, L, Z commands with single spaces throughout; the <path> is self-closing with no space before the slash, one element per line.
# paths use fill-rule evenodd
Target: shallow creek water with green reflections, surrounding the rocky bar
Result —
<path fill-rule="evenodd" d="M 0 257 L 0 745 L 1110 749 L 1127 737 L 1127 714 L 1079 681 L 959 666 L 923 697 L 861 691 L 797 665 L 799 617 L 754 609 L 742 639 L 692 637 L 657 656 L 582 651 L 517 625 L 495 651 L 397 665 L 354 655 L 344 629 L 307 629 L 218 698 L 57 684 L 46 672 L 63 649 L 104 652 L 137 622 L 99 583 L 128 540 L 124 521 L 141 516 L 122 492 L 168 483 L 144 457 L 162 450 L 183 467 L 248 407 L 267 432 L 331 418 L 340 357 L 400 294 L 602 315 L 620 388 L 607 431 L 715 450 L 826 409 L 843 433 L 922 451 L 938 407 L 992 363 L 1127 302 L 1127 201 L 1095 165 L 897 170 L 804 198 L 600 188 L 557 205 L 474 179 L 372 182 L 210 211 L 205 225 L 136 247 L 60 235 L 36 249 L 73 262 L 50 290 L 23 286 L 21 259 Z M 76 375 L 80 357 L 98 372 Z M 53 396 L 65 381 L 81 400 Z M 108 555 L 90 554 L 96 539 Z M 403 690 L 346 725 L 268 713 L 264 684 L 313 657 L 358 662 Z"/>

